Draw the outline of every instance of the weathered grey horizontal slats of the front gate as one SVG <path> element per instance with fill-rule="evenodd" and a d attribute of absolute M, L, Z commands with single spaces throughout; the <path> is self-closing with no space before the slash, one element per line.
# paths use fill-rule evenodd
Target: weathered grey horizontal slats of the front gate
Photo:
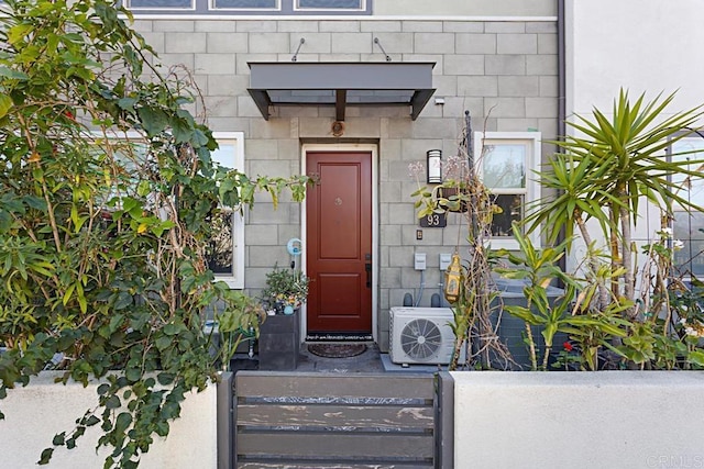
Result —
<path fill-rule="evenodd" d="M 436 467 L 432 375 L 240 371 L 234 402 L 240 469 Z"/>

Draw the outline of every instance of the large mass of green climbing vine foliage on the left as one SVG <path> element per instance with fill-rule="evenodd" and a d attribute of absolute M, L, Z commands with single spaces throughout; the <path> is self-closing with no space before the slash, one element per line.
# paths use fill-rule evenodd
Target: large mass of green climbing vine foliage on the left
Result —
<path fill-rule="evenodd" d="M 8 0 L 0 18 L 0 398 L 45 369 L 102 378 L 87 426 L 135 467 L 168 434 L 185 394 L 216 379 L 208 309 L 233 331 L 256 309 L 216 282 L 209 220 L 256 191 L 277 201 L 305 178 L 248 178 L 213 165 L 188 111 L 196 89 L 157 57 L 113 1 Z M 2 414 L 0 414 L 2 417 Z"/>

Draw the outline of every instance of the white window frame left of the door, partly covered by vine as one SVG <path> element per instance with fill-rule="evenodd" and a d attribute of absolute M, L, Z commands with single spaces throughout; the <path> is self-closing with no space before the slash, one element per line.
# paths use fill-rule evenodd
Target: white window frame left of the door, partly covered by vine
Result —
<path fill-rule="evenodd" d="M 229 161 L 216 159 L 216 153 L 211 154 L 213 161 L 244 172 L 244 132 L 213 132 L 212 136 L 218 144 L 234 146 L 231 165 Z M 244 289 L 244 217 L 239 212 L 234 212 L 232 216 L 232 273 L 216 273 L 216 280 L 226 282 L 231 289 L 242 290 Z"/>

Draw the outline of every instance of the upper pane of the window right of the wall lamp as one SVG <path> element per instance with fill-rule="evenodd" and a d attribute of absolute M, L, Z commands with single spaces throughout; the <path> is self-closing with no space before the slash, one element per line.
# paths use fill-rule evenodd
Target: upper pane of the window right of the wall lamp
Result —
<path fill-rule="evenodd" d="M 482 156 L 484 183 L 491 189 L 526 187 L 526 146 L 487 145 Z"/>

